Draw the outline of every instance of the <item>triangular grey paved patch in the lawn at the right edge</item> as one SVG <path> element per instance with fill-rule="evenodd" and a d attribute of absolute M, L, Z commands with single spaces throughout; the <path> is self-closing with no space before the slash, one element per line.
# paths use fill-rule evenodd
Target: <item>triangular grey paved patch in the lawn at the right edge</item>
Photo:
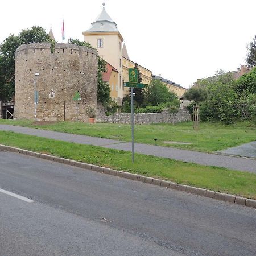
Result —
<path fill-rule="evenodd" d="M 218 151 L 225 155 L 238 155 L 247 158 L 256 158 L 256 141 L 243 144 L 241 146 L 228 148 L 227 150 Z"/>

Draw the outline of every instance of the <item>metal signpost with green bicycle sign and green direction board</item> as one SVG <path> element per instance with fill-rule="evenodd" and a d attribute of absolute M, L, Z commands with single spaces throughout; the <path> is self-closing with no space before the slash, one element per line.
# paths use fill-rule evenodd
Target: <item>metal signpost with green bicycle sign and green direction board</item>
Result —
<path fill-rule="evenodd" d="M 129 82 L 123 83 L 124 87 L 131 87 L 131 160 L 134 163 L 134 92 L 133 88 L 144 88 L 146 84 L 138 84 L 138 70 L 129 68 Z"/>

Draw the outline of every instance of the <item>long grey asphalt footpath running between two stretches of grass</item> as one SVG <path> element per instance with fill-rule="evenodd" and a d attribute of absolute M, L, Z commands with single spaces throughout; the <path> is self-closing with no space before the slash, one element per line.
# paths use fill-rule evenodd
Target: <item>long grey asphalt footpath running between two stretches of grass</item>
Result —
<path fill-rule="evenodd" d="M 104 139 L 85 135 L 59 133 L 56 131 L 33 129 L 12 125 L 0 125 L 0 130 L 14 131 L 15 133 L 22 133 L 28 135 L 36 135 L 39 137 L 46 137 L 60 141 L 89 144 L 94 146 L 102 146 L 105 148 L 131 151 L 130 142 L 117 141 L 114 139 Z M 256 173 L 256 159 L 254 160 L 239 158 L 236 156 L 208 154 L 197 151 L 180 150 L 177 148 L 154 146 L 141 143 L 135 143 L 134 148 L 135 152 L 139 154 L 154 155 L 163 158 L 181 160 L 184 162 L 203 164 L 205 166 L 225 167 L 232 170 Z"/>

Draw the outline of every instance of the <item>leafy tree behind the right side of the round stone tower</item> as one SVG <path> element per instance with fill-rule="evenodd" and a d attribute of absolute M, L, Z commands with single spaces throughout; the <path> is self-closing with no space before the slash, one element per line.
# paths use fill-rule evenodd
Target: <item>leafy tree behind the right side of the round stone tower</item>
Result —
<path fill-rule="evenodd" d="M 86 46 L 93 48 L 88 42 L 80 41 L 79 39 L 68 39 L 68 43 L 76 44 L 77 46 Z M 109 85 L 103 81 L 102 73 L 106 72 L 106 61 L 101 57 L 98 57 L 98 101 L 108 103 L 110 100 L 110 88 Z"/>

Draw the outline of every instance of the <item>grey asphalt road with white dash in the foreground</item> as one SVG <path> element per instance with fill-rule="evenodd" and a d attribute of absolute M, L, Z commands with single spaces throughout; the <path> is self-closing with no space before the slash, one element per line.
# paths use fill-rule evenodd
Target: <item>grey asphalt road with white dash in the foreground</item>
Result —
<path fill-rule="evenodd" d="M 0 151 L 1 255 L 254 255 L 256 210 Z"/>

